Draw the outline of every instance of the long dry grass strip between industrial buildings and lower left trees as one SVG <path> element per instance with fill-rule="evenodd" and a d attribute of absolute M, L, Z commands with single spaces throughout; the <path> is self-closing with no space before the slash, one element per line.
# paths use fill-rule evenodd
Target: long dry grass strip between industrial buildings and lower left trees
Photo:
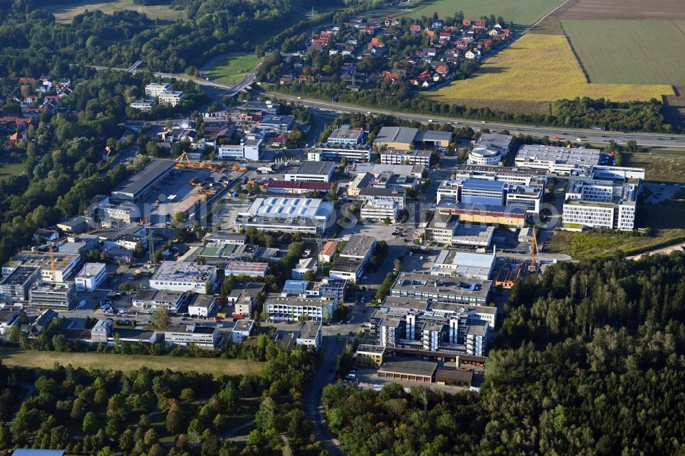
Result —
<path fill-rule="evenodd" d="M 153 370 L 164 370 L 166 368 L 177 371 L 196 370 L 216 376 L 257 373 L 264 365 L 264 363 L 247 361 L 246 359 L 114 355 L 112 353 L 57 353 L 6 347 L 0 349 L 0 359 L 7 366 L 52 368 L 57 362 L 65 366 L 72 364 L 82 368 L 103 368 L 123 370 L 124 372 L 145 366 Z"/>

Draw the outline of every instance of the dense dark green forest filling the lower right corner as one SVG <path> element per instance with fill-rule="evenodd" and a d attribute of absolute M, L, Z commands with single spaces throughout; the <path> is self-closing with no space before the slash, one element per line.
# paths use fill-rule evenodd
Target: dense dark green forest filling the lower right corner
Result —
<path fill-rule="evenodd" d="M 517 283 L 480 392 L 324 390 L 353 455 L 677 455 L 685 255 L 551 266 Z"/>

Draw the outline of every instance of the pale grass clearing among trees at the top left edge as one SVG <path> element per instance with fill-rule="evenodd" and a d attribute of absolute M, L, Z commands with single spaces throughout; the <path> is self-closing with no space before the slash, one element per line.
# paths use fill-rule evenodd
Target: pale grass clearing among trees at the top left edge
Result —
<path fill-rule="evenodd" d="M 169 2 L 171 3 L 171 1 Z M 71 22 L 74 16 L 82 12 L 100 10 L 105 14 L 112 14 L 115 11 L 132 10 L 137 11 L 151 19 L 178 19 L 184 16 L 183 11 L 172 10 L 169 5 L 142 6 L 134 5 L 133 0 L 76 0 L 72 3 L 62 3 L 47 8 L 42 8 L 55 15 L 58 22 Z"/>

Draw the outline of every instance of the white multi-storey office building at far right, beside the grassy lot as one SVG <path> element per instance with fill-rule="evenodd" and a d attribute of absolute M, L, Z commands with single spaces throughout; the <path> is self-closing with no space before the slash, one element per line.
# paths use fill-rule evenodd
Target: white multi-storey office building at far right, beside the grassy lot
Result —
<path fill-rule="evenodd" d="M 562 213 L 564 227 L 632 231 L 638 189 L 639 183 L 571 179 Z"/>

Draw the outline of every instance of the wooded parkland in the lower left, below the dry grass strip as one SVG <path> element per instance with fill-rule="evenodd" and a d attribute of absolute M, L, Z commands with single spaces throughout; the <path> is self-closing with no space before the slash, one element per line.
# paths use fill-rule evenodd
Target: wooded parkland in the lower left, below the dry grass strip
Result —
<path fill-rule="evenodd" d="M 51 370 L 0 364 L 0 448 L 66 448 L 72 454 L 321 455 L 301 392 L 316 354 L 258 340 L 259 375 L 197 372 Z M 32 394 L 25 400 L 24 396 Z M 222 437 L 255 420 L 245 444 Z M 249 420 L 249 418 L 248 418 Z M 171 448 L 170 448 L 171 446 Z M 118 453 L 121 454 L 121 453 Z"/>

